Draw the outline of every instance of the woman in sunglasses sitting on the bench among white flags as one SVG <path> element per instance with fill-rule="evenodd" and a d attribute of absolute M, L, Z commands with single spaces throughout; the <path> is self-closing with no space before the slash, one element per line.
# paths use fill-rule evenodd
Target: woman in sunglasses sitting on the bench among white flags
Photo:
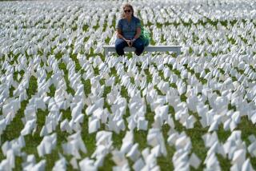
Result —
<path fill-rule="evenodd" d="M 141 34 L 141 22 L 134 17 L 134 8 L 130 4 L 123 6 L 122 18 L 118 21 L 116 26 L 117 40 L 115 41 L 115 50 L 118 55 L 124 55 L 124 48 L 126 46 L 133 46 L 135 54 L 140 55 L 144 50 L 144 43 L 139 38 Z"/>

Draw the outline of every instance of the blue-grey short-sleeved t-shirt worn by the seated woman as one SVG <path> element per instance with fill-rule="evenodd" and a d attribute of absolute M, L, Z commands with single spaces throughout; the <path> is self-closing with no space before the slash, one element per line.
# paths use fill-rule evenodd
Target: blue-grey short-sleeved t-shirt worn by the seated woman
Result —
<path fill-rule="evenodd" d="M 122 36 L 124 38 L 132 39 L 134 38 L 138 27 L 141 27 L 141 22 L 138 18 L 132 17 L 130 22 L 128 22 L 126 18 L 121 18 L 115 28 L 122 31 Z"/>

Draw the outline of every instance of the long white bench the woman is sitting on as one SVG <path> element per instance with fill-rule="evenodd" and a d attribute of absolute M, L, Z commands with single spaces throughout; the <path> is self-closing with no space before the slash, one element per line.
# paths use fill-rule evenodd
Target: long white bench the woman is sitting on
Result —
<path fill-rule="evenodd" d="M 109 52 L 115 52 L 114 46 L 103 46 L 105 56 Z M 182 46 L 146 46 L 144 52 L 175 52 L 177 55 L 181 54 Z M 125 47 L 125 52 L 134 52 L 134 47 Z"/>

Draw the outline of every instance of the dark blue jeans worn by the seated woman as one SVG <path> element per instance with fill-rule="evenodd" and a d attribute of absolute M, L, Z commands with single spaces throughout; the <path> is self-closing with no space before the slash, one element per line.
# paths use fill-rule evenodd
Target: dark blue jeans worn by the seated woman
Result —
<path fill-rule="evenodd" d="M 123 49 L 128 46 L 127 42 L 124 41 L 122 38 L 117 38 L 117 40 L 115 41 L 115 50 L 117 51 L 118 55 L 124 55 L 125 52 L 123 51 Z M 133 43 L 133 47 L 136 49 L 135 50 L 135 54 L 140 55 L 142 54 L 143 50 L 144 50 L 144 43 L 142 42 L 142 39 L 137 38 L 136 41 Z"/>

